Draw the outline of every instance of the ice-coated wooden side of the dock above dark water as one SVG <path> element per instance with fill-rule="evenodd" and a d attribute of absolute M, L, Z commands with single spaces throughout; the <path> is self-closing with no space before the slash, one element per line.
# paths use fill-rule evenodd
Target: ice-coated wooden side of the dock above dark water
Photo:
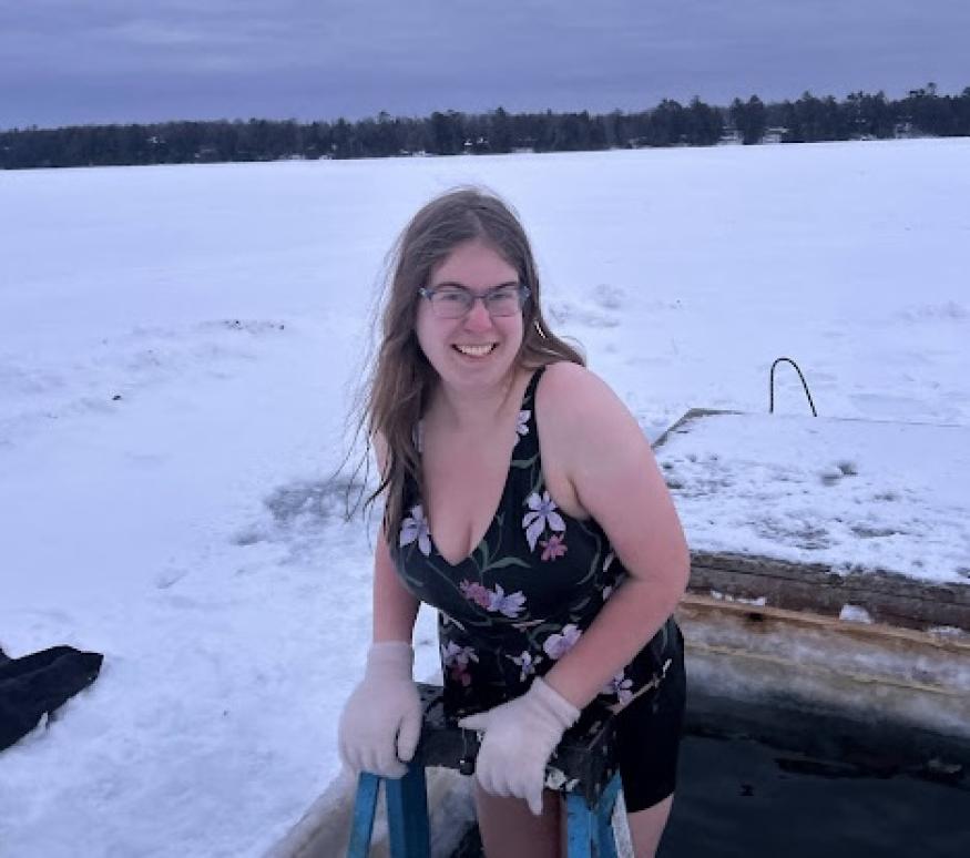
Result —
<path fill-rule="evenodd" d="M 950 739 L 962 746 L 961 754 L 970 748 L 968 635 L 845 622 L 696 594 L 685 596 L 677 619 L 686 639 L 692 699 L 709 698 L 707 708 L 721 699 L 719 714 L 712 714 L 731 715 L 735 726 L 751 719 L 748 735 L 758 736 L 766 719 L 785 722 L 799 713 L 808 731 L 814 717 L 844 722 L 843 733 L 860 734 L 852 739 L 859 748 L 870 728 L 884 749 L 909 731 L 921 734 L 920 753 L 943 748 Z"/>

